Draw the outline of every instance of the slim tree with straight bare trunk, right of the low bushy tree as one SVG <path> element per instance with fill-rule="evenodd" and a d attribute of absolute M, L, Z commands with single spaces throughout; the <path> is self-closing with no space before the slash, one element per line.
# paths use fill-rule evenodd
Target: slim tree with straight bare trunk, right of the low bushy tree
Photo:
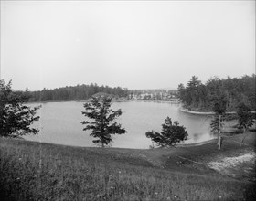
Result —
<path fill-rule="evenodd" d="M 222 138 L 221 138 L 221 127 L 223 126 L 222 122 L 224 121 L 224 115 L 226 112 L 227 100 L 224 97 L 219 97 L 219 100 L 216 100 L 213 105 L 213 111 L 215 115 L 210 123 L 211 131 L 218 132 L 218 149 L 221 149 Z"/>

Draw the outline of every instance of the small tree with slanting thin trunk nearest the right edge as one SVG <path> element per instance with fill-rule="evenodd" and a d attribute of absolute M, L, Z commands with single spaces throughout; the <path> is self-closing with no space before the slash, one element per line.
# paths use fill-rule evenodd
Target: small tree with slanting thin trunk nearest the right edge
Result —
<path fill-rule="evenodd" d="M 238 126 L 245 133 L 248 130 L 248 128 L 253 125 L 253 114 L 251 113 L 250 107 L 244 104 L 243 102 L 239 104 L 237 113 L 239 116 Z M 244 135 L 244 137 L 242 138 L 240 146 L 242 145 L 245 137 L 246 135 Z"/>

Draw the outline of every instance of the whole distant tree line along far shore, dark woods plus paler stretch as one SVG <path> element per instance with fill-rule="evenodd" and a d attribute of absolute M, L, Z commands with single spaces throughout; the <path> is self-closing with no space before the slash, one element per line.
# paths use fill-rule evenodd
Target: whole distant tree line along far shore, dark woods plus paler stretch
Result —
<path fill-rule="evenodd" d="M 96 83 L 90 85 L 82 84 L 77 86 L 66 86 L 48 90 L 23 92 L 29 99 L 28 102 L 37 101 L 67 101 L 67 100 L 88 100 L 94 94 L 112 94 L 114 98 L 125 98 L 126 100 L 169 100 L 176 97 L 176 90 L 128 90 L 121 87 L 98 86 Z"/>

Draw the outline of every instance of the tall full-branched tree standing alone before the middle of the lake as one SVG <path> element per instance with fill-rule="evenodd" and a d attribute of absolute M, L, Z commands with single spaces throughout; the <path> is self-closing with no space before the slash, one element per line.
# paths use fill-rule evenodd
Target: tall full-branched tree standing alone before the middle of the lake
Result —
<path fill-rule="evenodd" d="M 81 122 L 86 127 L 83 131 L 92 130 L 91 136 L 98 138 L 93 143 L 101 144 L 101 147 L 112 142 L 112 134 L 124 134 L 126 131 L 121 128 L 121 124 L 114 120 L 122 115 L 121 109 L 113 111 L 111 109 L 112 98 L 107 96 L 93 96 L 89 102 L 84 103 L 85 111 L 81 113 L 93 120 L 92 122 Z"/>

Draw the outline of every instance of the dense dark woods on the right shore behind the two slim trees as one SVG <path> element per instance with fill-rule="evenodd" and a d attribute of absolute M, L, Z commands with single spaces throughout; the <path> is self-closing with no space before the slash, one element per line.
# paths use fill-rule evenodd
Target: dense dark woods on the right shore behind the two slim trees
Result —
<path fill-rule="evenodd" d="M 236 111 L 240 102 L 256 111 L 255 74 L 240 78 L 208 79 L 203 84 L 196 76 L 178 85 L 178 98 L 183 106 L 189 110 L 211 111 L 213 103 L 225 100 L 227 111 Z"/>

